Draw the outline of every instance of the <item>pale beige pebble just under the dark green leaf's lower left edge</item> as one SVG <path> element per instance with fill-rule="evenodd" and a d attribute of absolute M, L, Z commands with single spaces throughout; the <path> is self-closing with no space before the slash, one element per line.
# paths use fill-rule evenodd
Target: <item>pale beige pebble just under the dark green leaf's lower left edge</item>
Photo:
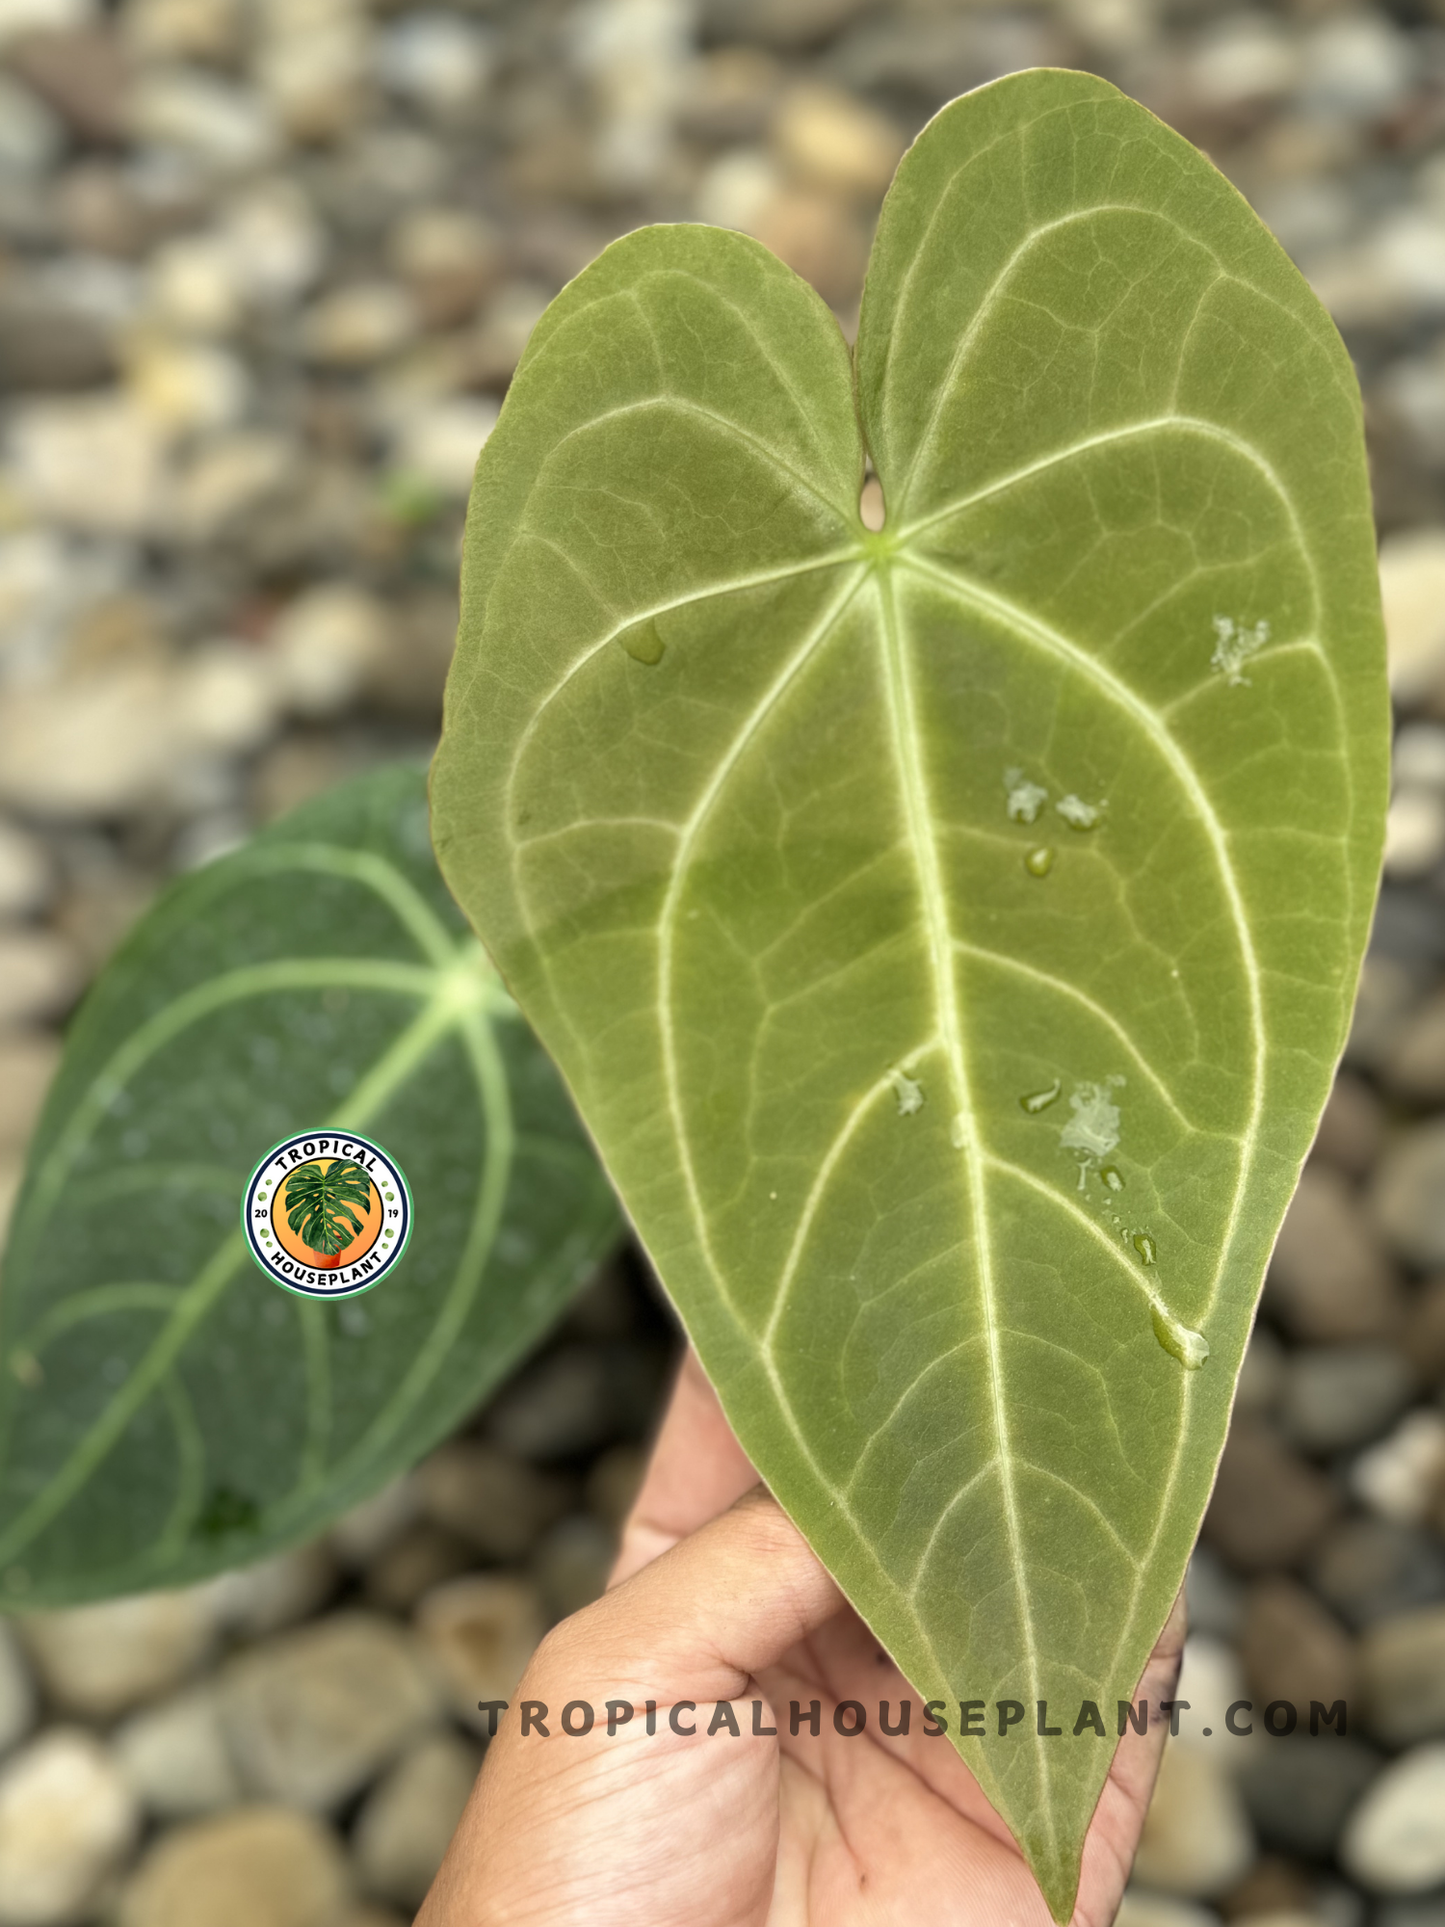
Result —
<path fill-rule="evenodd" d="M 60 1707 L 114 1719 L 195 1673 L 212 1650 L 216 1617 L 204 1588 L 143 1592 L 27 1615 L 19 1634 Z"/>

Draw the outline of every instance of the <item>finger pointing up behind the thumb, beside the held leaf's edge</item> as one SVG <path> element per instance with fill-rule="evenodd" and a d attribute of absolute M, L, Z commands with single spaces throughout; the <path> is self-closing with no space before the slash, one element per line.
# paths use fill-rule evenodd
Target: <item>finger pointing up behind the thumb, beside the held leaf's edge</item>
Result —
<path fill-rule="evenodd" d="M 642 1491 L 622 1528 L 611 1586 L 630 1578 L 757 1484 L 717 1393 L 688 1347 Z"/>

